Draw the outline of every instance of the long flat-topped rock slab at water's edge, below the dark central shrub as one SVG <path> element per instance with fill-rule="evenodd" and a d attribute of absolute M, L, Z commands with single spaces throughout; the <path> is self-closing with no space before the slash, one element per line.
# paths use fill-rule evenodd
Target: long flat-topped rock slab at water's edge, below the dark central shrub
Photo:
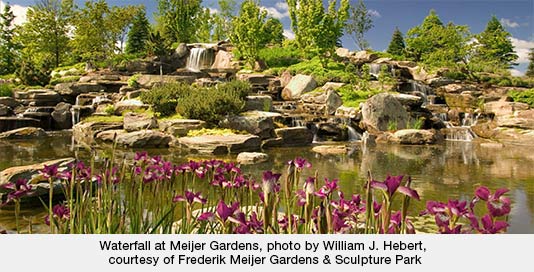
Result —
<path fill-rule="evenodd" d="M 192 153 L 213 155 L 236 154 L 240 152 L 259 151 L 260 137 L 256 135 L 204 135 L 196 137 L 182 137 L 177 139 L 177 145 Z"/>

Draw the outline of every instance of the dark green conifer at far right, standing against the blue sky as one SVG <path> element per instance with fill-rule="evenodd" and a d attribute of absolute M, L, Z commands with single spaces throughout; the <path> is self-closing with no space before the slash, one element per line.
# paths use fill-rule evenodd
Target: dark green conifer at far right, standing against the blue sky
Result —
<path fill-rule="evenodd" d="M 504 29 L 497 17 L 492 16 L 486 29 L 476 36 L 476 56 L 483 61 L 495 61 L 510 68 L 519 58 L 514 52 L 510 37 L 511 34 Z"/>

